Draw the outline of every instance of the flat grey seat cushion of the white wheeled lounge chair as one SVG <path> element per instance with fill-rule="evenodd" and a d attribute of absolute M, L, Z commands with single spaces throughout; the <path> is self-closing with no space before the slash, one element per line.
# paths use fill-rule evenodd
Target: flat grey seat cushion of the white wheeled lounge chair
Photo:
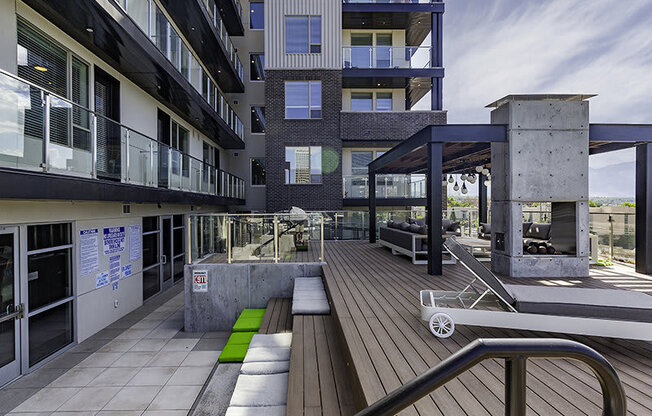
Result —
<path fill-rule="evenodd" d="M 505 285 L 523 313 L 652 322 L 652 296 L 617 289 Z"/>

